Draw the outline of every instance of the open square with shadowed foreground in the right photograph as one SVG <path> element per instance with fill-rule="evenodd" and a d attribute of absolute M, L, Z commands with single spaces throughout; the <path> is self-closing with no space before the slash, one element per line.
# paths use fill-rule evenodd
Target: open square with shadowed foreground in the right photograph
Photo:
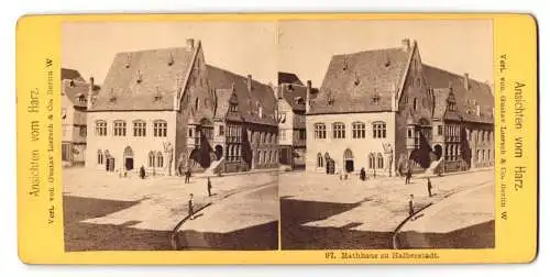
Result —
<path fill-rule="evenodd" d="M 360 239 L 361 232 L 370 235 L 384 234 L 383 236 L 387 237 L 408 217 L 409 195 L 415 196 L 415 210 L 418 210 L 428 203 L 437 204 L 470 188 L 486 185 L 494 189 L 494 171 L 481 170 L 431 177 L 431 182 L 433 196 L 430 198 L 425 178 L 413 178 L 410 185 L 405 185 L 405 179 L 400 177 L 377 177 L 361 181 L 356 175 L 352 175 L 348 180 L 340 180 L 339 176 L 310 171 L 280 175 L 283 247 L 295 248 L 294 244 L 301 244 L 301 246 L 315 248 L 315 246 L 306 245 L 301 240 L 308 240 L 309 244 L 319 243 L 330 247 L 330 244 L 322 242 L 322 237 L 293 237 L 318 229 L 338 230 L 342 237 L 351 233 L 350 237 L 356 240 L 359 244 L 369 244 L 364 237 Z M 482 199 L 466 198 L 463 201 L 465 202 L 461 202 L 460 207 L 473 207 L 479 201 L 494 207 L 494 197 L 491 195 Z M 304 218 L 299 214 L 300 211 L 290 211 L 285 207 L 287 204 L 299 207 L 299 202 L 314 207 L 308 208 L 312 210 L 309 211 L 310 217 Z M 333 209 L 333 212 L 327 211 L 330 209 Z M 475 215 L 472 217 L 475 218 Z M 446 225 L 451 220 L 446 220 L 443 217 L 438 224 Z M 294 231 L 298 229 L 305 231 Z M 332 240 L 332 237 L 327 240 Z M 338 240 L 338 236 L 333 240 Z M 353 245 L 342 246 L 341 243 L 334 245 L 334 247 L 353 247 Z M 358 246 L 360 245 L 355 245 Z"/>

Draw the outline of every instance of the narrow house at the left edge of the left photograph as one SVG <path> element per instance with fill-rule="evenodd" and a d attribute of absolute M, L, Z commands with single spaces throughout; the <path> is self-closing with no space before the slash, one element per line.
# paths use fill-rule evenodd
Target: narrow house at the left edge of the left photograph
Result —
<path fill-rule="evenodd" d="M 64 166 L 84 166 L 86 159 L 86 108 L 88 95 L 98 86 L 86 82 L 75 69 L 62 68 L 62 162 Z"/>

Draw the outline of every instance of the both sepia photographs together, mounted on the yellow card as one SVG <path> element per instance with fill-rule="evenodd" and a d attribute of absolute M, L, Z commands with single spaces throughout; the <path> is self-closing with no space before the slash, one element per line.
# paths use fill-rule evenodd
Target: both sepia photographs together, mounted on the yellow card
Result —
<path fill-rule="evenodd" d="M 490 20 L 62 34 L 67 252 L 495 245 Z"/>

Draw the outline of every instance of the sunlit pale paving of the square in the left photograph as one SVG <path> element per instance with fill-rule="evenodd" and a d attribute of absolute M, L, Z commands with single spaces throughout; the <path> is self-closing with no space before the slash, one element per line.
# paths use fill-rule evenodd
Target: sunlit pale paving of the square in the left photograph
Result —
<path fill-rule="evenodd" d="M 172 231 L 176 224 L 187 215 L 187 200 L 189 193 L 194 193 L 197 206 L 207 202 L 223 202 L 231 199 L 235 203 L 228 202 L 223 207 L 233 210 L 245 209 L 251 215 L 242 221 L 217 220 L 212 222 L 211 231 L 233 230 L 245 225 L 246 220 L 251 223 L 265 221 L 268 215 L 271 220 L 278 219 L 277 207 L 273 208 L 274 201 L 277 201 L 276 191 L 273 193 L 272 201 L 245 201 L 242 204 L 238 201 L 242 198 L 232 198 L 229 196 L 241 191 L 253 190 L 270 184 L 277 184 L 276 173 L 261 173 L 250 175 L 234 175 L 223 177 L 212 177 L 212 193 L 208 197 L 207 179 L 193 178 L 190 184 L 184 184 L 183 177 L 156 176 L 146 179 L 140 179 L 136 175 L 129 177 L 119 177 L 118 175 L 108 175 L 102 170 L 88 168 L 69 168 L 64 170 L 64 195 L 69 197 L 94 198 L 118 201 L 138 201 L 136 204 L 127 209 L 109 213 L 103 217 L 86 219 L 81 222 L 94 224 L 114 224 L 141 230 Z M 264 207 L 265 204 L 265 207 Z M 218 215 L 216 209 L 211 206 L 212 215 L 205 215 L 197 221 L 197 228 L 207 230 L 208 223 L 202 223 L 210 217 Z M 252 212 L 251 212 L 252 211 Z M 255 213 L 254 211 L 257 211 Z M 271 214 L 270 214 L 271 213 Z M 206 214 L 206 211 L 205 211 Z M 218 212 L 218 214 L 220 214 Z M 226 215 L 228 215 L 227 213 Z M 237 214 L 232 214 L 237 217 Z M 237 222 L 240 222 L 237 224 Z M 228 225 L 223 225 L 227 223 Z"/>

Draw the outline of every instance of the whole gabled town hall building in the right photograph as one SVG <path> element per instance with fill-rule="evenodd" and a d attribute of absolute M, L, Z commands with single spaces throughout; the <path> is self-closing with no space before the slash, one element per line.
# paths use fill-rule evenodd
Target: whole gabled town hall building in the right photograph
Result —
<path fill-rule="evenodd" d="M 447 170 L 493 165 L 490 86 L 422 64 L 409 40 L 333 56 L 319 93 L 306 103 L 310 170 L 328 170 L 329 160 L 344 171 L 391 175 L 422 140 Z"/>

